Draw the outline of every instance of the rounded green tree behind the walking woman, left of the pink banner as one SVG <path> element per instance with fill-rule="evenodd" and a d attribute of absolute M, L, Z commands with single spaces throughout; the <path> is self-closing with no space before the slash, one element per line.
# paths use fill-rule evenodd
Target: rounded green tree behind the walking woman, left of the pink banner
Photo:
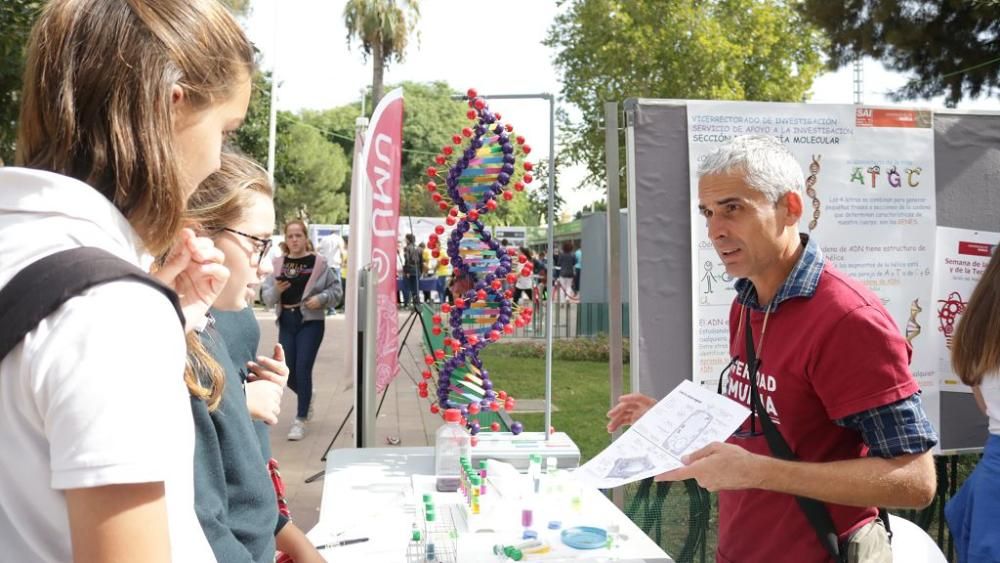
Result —
<path fill-rule="evenodd" d="M 343 149 L 288 112 L 278 112 L 276 144 L 274 204 L 279 223 L 298 217 L 346 222 L 350 167 Z"/>

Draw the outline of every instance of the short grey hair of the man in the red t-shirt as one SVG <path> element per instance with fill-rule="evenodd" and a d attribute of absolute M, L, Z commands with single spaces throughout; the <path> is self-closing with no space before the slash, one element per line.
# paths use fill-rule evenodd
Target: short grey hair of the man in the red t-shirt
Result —
<path fill-rule="evenodd" d="M 802 195 L 805 178 L 795 155 L 768 135 L 743 135 L 708 153 L 698 177 L 736 173 L 772 203 L 788 192 Z"/>

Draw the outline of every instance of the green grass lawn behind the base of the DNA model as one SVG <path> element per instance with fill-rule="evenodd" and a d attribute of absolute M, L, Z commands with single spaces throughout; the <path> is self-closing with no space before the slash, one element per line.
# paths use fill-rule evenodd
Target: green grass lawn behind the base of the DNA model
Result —
<path fill-rule="evenodd" d="M 483 365 L 497 388 L 515 399 L 545 397 L 545 358 L 508 355 L 502 345 L 483 350 Z M 566 432 L 580 448 L 581 463 L 597 455 L 611 443 L 605 428 L 611 404 L 608 362 L 552 360 L 552 403 L 559 409 L 552 413 L 552 426 Z M 628 366 L 624 379 L 628 385 Z M 524 429 L 544 430 L 543 413 L 511 413 Z"/>

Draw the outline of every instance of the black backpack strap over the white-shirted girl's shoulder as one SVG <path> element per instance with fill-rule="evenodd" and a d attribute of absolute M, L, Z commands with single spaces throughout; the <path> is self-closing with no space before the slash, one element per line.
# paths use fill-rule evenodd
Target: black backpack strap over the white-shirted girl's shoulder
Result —
<path fill-rule="evenodd" d="M 66 301 L 91 287 L 123 279 L 162 293 L 183 329 L 184 313 L 172 289 L 106 250 L 71 248 L 32 262 L 0 289 L 0 360 Z"/>

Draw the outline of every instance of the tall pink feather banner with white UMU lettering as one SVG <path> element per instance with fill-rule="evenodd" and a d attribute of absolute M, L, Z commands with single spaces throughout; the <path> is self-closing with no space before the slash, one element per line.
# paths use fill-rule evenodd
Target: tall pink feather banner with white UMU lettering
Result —
<path fill-rule="evenodd" d="M 399 179 L 403 146 L 403 90 L 378 103 L 365 138 L 365 172 L 372 194 L 372 263 L 377 272 L 378 333 L 376 388 L 385 389 L 399 371 L 396 332 L 396 241 L 399 227 Z"/>

